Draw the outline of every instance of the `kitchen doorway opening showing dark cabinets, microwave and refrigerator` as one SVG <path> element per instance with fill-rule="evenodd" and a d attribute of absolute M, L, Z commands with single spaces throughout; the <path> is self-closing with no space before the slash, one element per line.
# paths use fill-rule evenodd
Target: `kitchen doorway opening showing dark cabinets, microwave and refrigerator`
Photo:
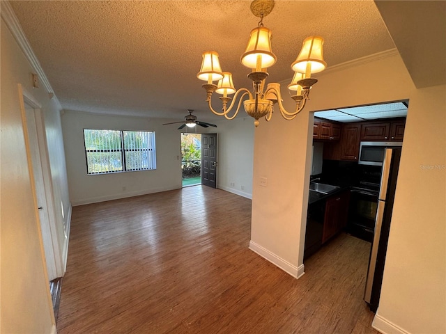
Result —
<path fill-rule="evenodd" d="M 314 113 L 304 260 L 346 234 L 364 249 L 369 246 L 369 263 L 360 266 L 367 264 L 364 301 L 373 312 L 378 308 L 407 112 L 408 100 Z"/>

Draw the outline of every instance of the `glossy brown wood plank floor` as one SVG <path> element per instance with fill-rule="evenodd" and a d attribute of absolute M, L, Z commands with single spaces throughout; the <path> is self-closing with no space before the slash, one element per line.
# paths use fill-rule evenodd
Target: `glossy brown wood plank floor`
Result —
<path fill-rule="evenodd" d="M 249 250 L 250 219 L 206 186 L 74 207 L 58 333 L 378 333 L 366 241 L 341 234 L 296 280 Z"/>

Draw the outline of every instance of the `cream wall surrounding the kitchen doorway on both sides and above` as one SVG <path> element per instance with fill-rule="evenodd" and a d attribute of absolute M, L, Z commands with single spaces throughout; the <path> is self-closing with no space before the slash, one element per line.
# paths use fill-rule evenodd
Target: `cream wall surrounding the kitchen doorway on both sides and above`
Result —
<path fill-rule="evenodd" d="M 301 115 L 287 124 L 284 120 L 261 122 L 261 131 L 256 131 L 254 250 L 260 250 L 261 255 L 282 269 L 291 269 L 293 275 L 302 269 L 311 168 L 313 118 L 309 111 L 409 99 L 401 179 L 397 184 L 387 252 L 390 260 L 385 267 L 375 326 L 383 333 L 390 324 L 413 334 L 445 333 L 445 170 L 429 174 L 420 169 L 420 164 L 445 164 L 445 87 L 416 90 L 396 53 L 334 67 L 317 78 L 319 82 Z M 284 102 L 290 106 L 287 100 Z M 277 113 L 273 118 L 279 118 Z M 420 152 L 423 153 L 418 157 Z M 271 160 L 275 161 L 274 166 Z M 291 170 L 295 175 L 289 173 Z M 266 188 L 257 182 L 261 176 L 268 177 Z M 440 186 L 436 196 L 433 196 L 432 184 Z M 418 196 L 428 198 L 420 200 Z M 426 224 L 424 229 L 422 225 Z M 436 259 L 431 260 L 432 257 Z"/>

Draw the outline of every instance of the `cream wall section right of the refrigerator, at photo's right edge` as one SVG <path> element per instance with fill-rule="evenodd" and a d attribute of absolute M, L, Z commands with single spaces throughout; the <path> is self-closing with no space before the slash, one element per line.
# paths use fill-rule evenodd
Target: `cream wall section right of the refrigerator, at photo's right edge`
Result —
<path fill-rule="evenodd" d="M 375 324 L 446 333 L 446 86 L 410 95 Z M 390 327 L 390 328 L 389 328 Z"/>

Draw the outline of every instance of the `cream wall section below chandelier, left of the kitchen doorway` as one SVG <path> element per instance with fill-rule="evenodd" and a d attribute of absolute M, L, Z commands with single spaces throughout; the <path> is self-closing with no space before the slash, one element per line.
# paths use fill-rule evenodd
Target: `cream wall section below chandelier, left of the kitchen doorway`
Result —
<path fill-rule="evenodd" d="M 308 192 L 303 189 L 309 182 L 307 168 L 311 168 L 312 152 L 307 152 L 305 144 L 310 119 L 314 119 L 312 114 L 302 112 L 295 120 L 286 121 L 277 111 L 270 122 L 261 120 L 254 134 L 249 247 L 294 277 L 303 273 L 299 260 L 303 242 L 299 240 L 305 237 L 300 222 L 307 211 L 302 203 L 308 201 Z"/>

